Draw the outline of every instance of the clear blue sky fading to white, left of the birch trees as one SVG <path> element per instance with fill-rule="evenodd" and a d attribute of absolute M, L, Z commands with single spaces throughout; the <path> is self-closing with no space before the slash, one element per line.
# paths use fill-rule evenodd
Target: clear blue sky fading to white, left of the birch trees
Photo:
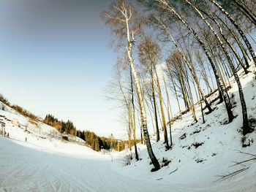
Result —
<path fill-rule="evenodd" d="M 42 118 L 123 136 L 103 98 L 116 54 L 99 18 L 110 0 L 0 0 L 0 93 Z M 121 134 L 123 133 L 123 134 Z"/>

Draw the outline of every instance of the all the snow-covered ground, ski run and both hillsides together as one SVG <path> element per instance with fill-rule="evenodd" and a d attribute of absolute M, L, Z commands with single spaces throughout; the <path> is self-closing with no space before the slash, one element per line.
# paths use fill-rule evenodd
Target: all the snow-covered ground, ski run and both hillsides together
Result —
<path fill-rule="evenodd" d="M 255 69 L 251 67 L 250 70 Z M 256 118 L 255 74 L 242 73 L 241 81 L 249 118 Z M 0 137 L 0 191 L 256 191 L 256 161 L 232 166 L 235 162 L 255 158 L 238 150 L 256 154 L 253 142 L 256 141 L 256 132 L 246 138 L 250 146 L 242 147 L 238 89 L 233 79 L 231 83 L 233 88 L 229 92 L 234 93 L 236 107 L 233 112 L 237 118 L 226 124 L 225 106 L 217 102 L 212 104 L 217 108 L 205 116 L 204 124 L 202 120 L 195 123 L 189 113 L 184 115 L 172 125 L 172 150 L 165 151 L 162 133 L 159 142 L 151 138 L 159 161 L 162 162 L 163 158 L 170 161 L 157 172 L 150 172 L 153 166 L 144 145 L 138 145 L 142 159 L 133 159 L 130 165 L 124 166 L 127 153 L 115 153 L 112 162 L 110 155 L 102 155 L 74 142 L 61 141 L 59 133 L 45 124 L 40 129 L 29 124 L 29 134 L 10 122 L 17 118 L 26 125 L 28 120 L 4 107 L 4 111 L 0 110 L 0 120 L 6 123 L 10 139 Z M 200 107 L 197 107 L 197 118 L 200 119 Z M 186 138 L 179 139 L 184 134 Z M 202 145 L 195 147 L 198 143 Z M 219 180 L 219 175 L 240 169 L 244 171 Z"/>

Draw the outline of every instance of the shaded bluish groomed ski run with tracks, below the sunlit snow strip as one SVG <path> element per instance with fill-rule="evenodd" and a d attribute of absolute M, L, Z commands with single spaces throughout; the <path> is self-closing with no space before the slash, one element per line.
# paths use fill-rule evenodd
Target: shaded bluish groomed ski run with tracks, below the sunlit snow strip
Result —
<path fill-rule="evenodd" d="M 140 191 L 140 186 L 154 191 L 150 181 L 113 171 L 109 157 L 90 154 L 88 159 L 86 151 L 83 158 L 45 153 L 2 137 L 0 146 L 0 191 Z"/>

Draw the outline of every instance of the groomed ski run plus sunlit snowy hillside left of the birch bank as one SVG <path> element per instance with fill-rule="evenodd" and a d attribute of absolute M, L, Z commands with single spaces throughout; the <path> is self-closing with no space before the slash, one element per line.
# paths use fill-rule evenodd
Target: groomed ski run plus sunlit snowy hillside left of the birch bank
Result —
<path fill-rule="evenodd" d="M 26 123 L 26 118 L 9 108 L 0 115 L 10 134 L 0 136 L 0 191 L 151 191 L 159 184 L 114 172 L 110 155 L 53 138 L 47 134 L 54 129 L 50 126 L 42 125 L 39 135 L 36 128 L 28 127 L 28 133 L 12 125 L 9 119 Z"/>

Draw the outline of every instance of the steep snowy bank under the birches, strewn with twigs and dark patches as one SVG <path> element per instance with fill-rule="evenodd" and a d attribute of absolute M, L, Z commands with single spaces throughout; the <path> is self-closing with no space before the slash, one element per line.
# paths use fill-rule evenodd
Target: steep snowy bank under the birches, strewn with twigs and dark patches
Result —
<path fill-rule="evenodd" d="M 240 77 L 248 117 L 253 119 L 256 118 L 255 67 L 251 66 L 250 71 L 252 73 L 249 74 L 240 72 Z M 127 176 L 140 178 L 140 180 L 158 180 L 159 188 L 172 183 L 170 189 L 173 191 L 256 191 L 256 159 L 233 166 L 236 162 L 255 158 L 253 155 L 244 153 L 256 155 L 256 132 L 246 135 L 245 144 L 250 146 L 242 147 L 241 140 L 245 138 L 241 134 L 241 104 L 238 88 L 233 78 L 230 79 L 230 83 L 232 88 L 229 93 L 234 104 L 233 114 L 237 116 L 232 123 L 227 123 L 224 103 L 218 104 L 218 101 L 215 101 L 211 104 L 215 108 L 214 112 L 205 115 L 206 123 L 204 124 L 201 119 L 200 106 L 197 106 L 197 119 L 200 119 L 197 123 L 193 120 L 191 113 L 173 123 L 174 146 L 172 150 L 165 151 L 163 134 L 162 140 L 157 143 L 155 137 L 152 138 L 155 155 L 159 162 L 163 158 L 170 161 L 167 166 L 163 166 L 157 172 L 148 173 L 153 165 L 150 165 L 146 146 L 138 145 L 141 161 L 133 159 L 129 166 L 121 166 L 124 164 L 124 158 L 116 155 L 117 163 L 113 168 Z M 212 95 L 210 100 L 216 97 L 217 93 Z M 232 174 L 239 170 L 241 170 L 240 173 Z M 228 174 L 231 175 L 221 177 Z"/>

